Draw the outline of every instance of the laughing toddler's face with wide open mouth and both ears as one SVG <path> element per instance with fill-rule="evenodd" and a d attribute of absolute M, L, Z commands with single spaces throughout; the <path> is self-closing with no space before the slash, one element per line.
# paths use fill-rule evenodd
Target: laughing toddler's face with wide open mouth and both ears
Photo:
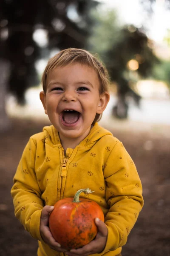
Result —
<path fill-rule="evenodd" d="M 83 140 L 91 129 L 96 113 L 102 113 L 109 94 L 99 95 L 95 70 L 81 64 L 57 67 L 47 76 L 47 91 L 40 99 L 60 138 Z"/>

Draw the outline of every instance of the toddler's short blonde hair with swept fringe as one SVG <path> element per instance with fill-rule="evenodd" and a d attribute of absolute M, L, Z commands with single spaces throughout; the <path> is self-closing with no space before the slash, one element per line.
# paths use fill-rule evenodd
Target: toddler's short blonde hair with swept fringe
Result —
<path fill-rule="evenodd" d="M 73 63 L 87 65 L 88 67 L 92 67 L 96 71 L 99 78 L 99 82 L 100 82 L 100 87 L 99 87 L 100 95 L 104 92 L 109 91 L 110 81 L 108 77 L 108 71 L 103 66 L 102 62 L 99 61 L 96 56 L 92 55 L 90 52 L 84 49 L 68 48 L 58 52 L 56 55 L 54 55 L 54 57 L 48 60 L 47 66 L 45 67 L 45 70 L 42 73 L 42 79 L 41 79 L 44 93 L 46 93 L 46 90 L 47 90 L 46 80 L 47 80 L 48 73 L 57 67 L 65 67 L 68 64 L 73 64 Z M 96 113 L 96 116 L 92 125 L 94 125 L 95 122 L 99 121 L 101 117 L 102 117 L 102 114 Z"/>

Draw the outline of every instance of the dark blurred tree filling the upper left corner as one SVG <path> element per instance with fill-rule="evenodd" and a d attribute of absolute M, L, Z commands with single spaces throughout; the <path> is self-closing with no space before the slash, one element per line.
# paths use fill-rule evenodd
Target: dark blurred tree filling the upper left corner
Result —
<path fill-rule="evenodd" d="M 91 33 L 89 10 L 95 0 L 1 0 L 0 1 L 0 127 L 6 127 L 5 93 L 23 104 L 24 93 L 39 79 L 35 62 L 52 49 L 83 48 Z M 39 38 L 38 33 L 46 35 Z"/>

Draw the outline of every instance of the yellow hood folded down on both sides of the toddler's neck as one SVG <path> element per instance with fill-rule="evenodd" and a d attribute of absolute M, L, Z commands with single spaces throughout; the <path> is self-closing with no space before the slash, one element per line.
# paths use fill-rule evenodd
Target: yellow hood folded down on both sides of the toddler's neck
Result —
<path fill-rule="evenodd" d="M 56 130 L 56 128 L 54 128 L 53 125 L 45 126 L 43 128 L 43 131 L 45 133 L 46 140 L 50 141 L 53 145 L 61 144 L 58 131 Z M 85 137 L 85 139 L 82 140 L 79 145 L 88 146 L 90 144 L 94 144 L 97 140 L 101 139 L 105 135 L 113 136 L 113 134 L 110 131 L 106 130 L 105 128 L 102 128 L 96 122 L 95 125 L 91 128 L 91 131 L 88 134 L 88 136 Z"/>

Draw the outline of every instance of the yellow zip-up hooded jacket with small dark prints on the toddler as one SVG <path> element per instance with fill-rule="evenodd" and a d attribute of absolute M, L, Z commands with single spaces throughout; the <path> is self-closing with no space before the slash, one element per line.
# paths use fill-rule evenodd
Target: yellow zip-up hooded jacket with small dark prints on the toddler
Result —
<path fill-rule="evenodd" d="M 40 236 L 42 208 L 74 197 L 79 189 L 87 187 L 95 192 L 80 197 L 88 197 L 102 207 L 108 227 L 105 249 L 94 256 L 116 256 L 143 206 L 141 181 L 122 142 L 97 123 L 76 148 L 67 148 L 66 154 L 53 125 L 30 138 L 11 195 L 15 216 L 39 240 L 38 256 L 64 255 L 48 247 Z"/>

